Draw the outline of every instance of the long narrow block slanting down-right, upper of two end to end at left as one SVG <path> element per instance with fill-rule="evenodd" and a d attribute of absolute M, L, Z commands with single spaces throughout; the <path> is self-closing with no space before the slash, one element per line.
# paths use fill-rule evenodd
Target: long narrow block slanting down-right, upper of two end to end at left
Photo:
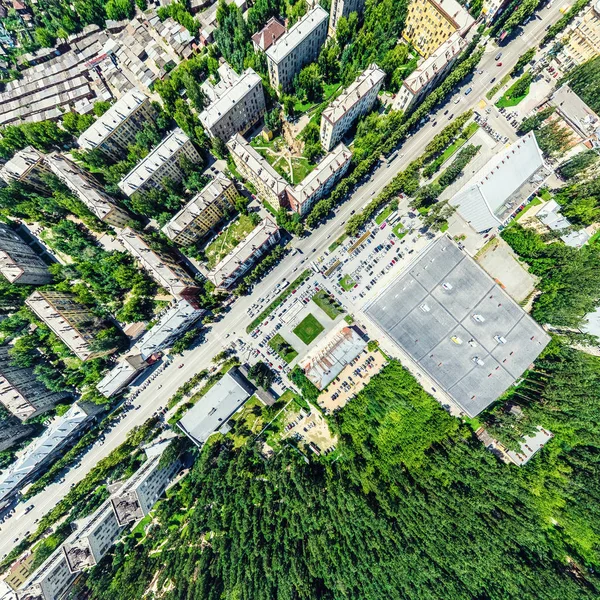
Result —
<path fill-rule="evenodd" d="M 100 184 L 72 160 L 56 152 L 46 155 L 45 160 L 52 173 L 101 221 L 113 227 L 124 227 L 130 220 L 127 212 L 116 204 Z"/>

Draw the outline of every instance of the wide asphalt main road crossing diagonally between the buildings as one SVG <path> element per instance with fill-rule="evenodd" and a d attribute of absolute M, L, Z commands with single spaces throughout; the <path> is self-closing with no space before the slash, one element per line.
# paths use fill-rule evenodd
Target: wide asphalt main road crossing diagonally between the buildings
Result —
<path fill-rule="evenodd" d="M 177 391 L 179 386 L 195 373 L 209 368 L 212 357 L 220 349 L 228 346 L 236 338 L 236 334 L 245 331 L 246 326 L 251 321 L 246 313 L 250 305 L 256 302 L 257 298 L 265 298 L 283 278 L 292 281 L 302 269 L 310 264 L 311 260 L 327 250 L 327 247 L 343 233 L 344 224 L 350 217 L 351 212 L 360 210 L 399 171 L 404 169 L 410 161 L 417 158 L 435 134 L 448 123 L 448 115 L 458 116 L 469 109 L 476 108 L 482 99 L 485 100 L 486 92 L 496 83 L 491 83 L 491 79 L 495 77 L 496 81 L 500 81 L 504 75 L 512 70 L 519 56 L 540 42 L 545 34 L 546 26 L 555 23 L 562 16 L 559 7 L 560 5 L 556 3 L 550 9 L 542 9 L 538 13 L 542 20 L 534 19 L 528 23 L 524 28 L 523 35 L 517 36 L 506 46 L 498 48 L 490 42 L 478 67 L 478 70 L 483 70 L 483 74 L 475 73 L 471 79 L 467 80 L 457 90 L 446 105 L 441 106 L 435 113 L 432 113 L 429 122 L 404 142 L 398 156 L 389 166 L 384 163 L 375 170 L 371 179 L 357 188 L 348 201 L 338 209 L 335 217 L 321 225 L 307 238 L 296 240 L 293 245 L 299 248 L 302 253 L 294 256 L 288 255 L 284 258 L 267 277 L 256 285 L 252 296 L 239 298 L 232 306 L 232 310 L 220 322 L 211 324 L 210 331 L 207 333 L 203 344 L 187 351 L 183 357 L 176 358 L 171 365 L 156 377 L 135 399 L 135 410 L 128 412 L 123 420 L 110 433 L 106 434 L 103 445 L 96 444 L 85 454 L 80 465 L 72 469 L 65 477 L 65 483 L 48 486 L 29 502 L 19 504 L 15 514 L 0 527 L 0 558 L 12 550 L 16 545 L 16 539 L 20 541 L 25 532 L 33 532 L 36 527 L 34 521 L 41 519 L 51 508 L 56 506 L 67 494 L 72 484 L 81 481 L 98 461 L 123 443 L 127 433 L 133 427 L 144 423 L 159 407 L 166 406 L 168 399 Z M 497 67 L 496 63 L 498 61 L 494 57 L 500 51 L 502 52 L 502 58 L 500 59 L 502 66 Z M 468 96 L 465 96 L 464 92 L 469 87 L 472 88 L 472 91 Z M 460 98 L 460 101 L 454 104 L 457 98 Z M 446 109 L 449 109 L 448 115 L 443 114 Z M 433 126 L 432 124 L 436 122 L 437 125 Z M 178 368 L 181 364 L 183 364 L 183 367 Z M 160 389 L 159 386 L 161 386 Z M 24 516 L 23 512 L 26 506 L 31 504 L 34 508 Z"/>

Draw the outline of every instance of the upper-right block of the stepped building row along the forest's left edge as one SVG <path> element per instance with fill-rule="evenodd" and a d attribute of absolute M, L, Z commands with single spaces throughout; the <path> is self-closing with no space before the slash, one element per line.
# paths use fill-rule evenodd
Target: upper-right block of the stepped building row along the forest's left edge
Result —
<path fill-rule="evenodd" d="M 167 486 L 181 470 L 178 456 L 168 460 L 166 440 L 146 449 L 148 460 L 110 499 L 113 514 L 121 526 L 145 517 L 165 493 Z"/>

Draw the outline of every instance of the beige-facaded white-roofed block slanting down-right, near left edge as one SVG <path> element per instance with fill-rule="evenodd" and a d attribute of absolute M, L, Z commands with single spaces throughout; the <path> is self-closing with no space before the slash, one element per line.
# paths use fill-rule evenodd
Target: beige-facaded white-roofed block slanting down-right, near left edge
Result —
<path fill-rule="evenodd" d="M 115 348 L 93 350 L 94 339 L 103 329 L 103 324 L 89 308 L 75 300 L 75 294 L 38 290 L 25 300 L 25 304 L 52 329 L 77 358 L 89 360 L 115 351 Z"/>

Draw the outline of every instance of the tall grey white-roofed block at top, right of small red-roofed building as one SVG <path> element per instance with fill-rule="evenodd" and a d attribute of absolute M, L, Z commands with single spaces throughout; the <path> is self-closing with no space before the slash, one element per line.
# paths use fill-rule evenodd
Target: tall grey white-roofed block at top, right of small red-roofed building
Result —
<path fill-rule="evenodd" d="M 288 91 L 302 67 L 314 62 L 327 39 L 329 15 L 316 6 L 282 35 L 266 52 L 269 80 L 274 89 Z"/>

